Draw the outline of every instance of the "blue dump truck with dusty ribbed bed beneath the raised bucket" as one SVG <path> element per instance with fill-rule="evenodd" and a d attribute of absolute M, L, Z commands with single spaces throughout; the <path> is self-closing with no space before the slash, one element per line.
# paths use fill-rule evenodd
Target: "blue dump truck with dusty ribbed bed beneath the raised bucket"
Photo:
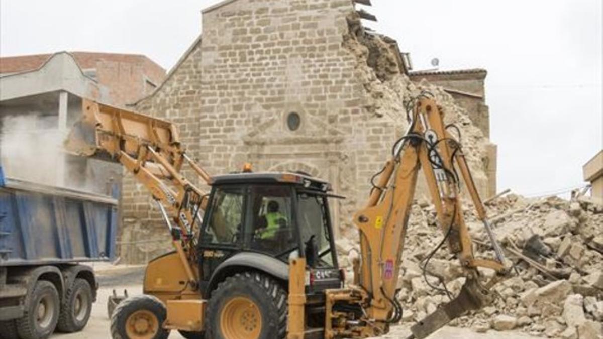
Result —
<path fill-rule="evenodd" d="M 0 166 L 0 338 L 86 326 L 98 282 L 82 263 L 115 257 L 118 195 L 11 179 Z"/>

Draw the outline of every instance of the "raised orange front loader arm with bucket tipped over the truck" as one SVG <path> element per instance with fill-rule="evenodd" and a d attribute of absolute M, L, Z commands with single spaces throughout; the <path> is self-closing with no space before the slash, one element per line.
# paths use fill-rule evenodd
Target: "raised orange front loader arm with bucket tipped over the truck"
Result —
<path fill-rule="evenodd" d="M 79 156 L 121 163 L 157 202 L 172 235 L 189 283 L 197 285 L 194 227 L 207 195 L 183 175 L 191 166 L 201 182 L 211 177 L 185 153 L 171 122 L 91 100 L 83 100 L 82 118 L 74 125 L 65 148 Z"/>

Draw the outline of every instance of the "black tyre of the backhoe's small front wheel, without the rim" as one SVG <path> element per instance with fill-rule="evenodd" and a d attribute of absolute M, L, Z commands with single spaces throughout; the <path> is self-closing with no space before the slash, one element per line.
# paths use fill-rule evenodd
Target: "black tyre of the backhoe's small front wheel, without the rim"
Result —
<path fill-rule="evenodd" d="M 140 311 L 150 312 L 159 323 L 159 328 L 157 328 L 152 339 L 166 339 L 169 331 L 162 328 L 167 317 L 165 306 L 156 297 L 147 295 L 130 297 L 119 303 L 111 316 L 111 337 L 113 339 L 137 339 L 128 336 L 126 328 L 130 316 Z M 144 337 L 144 335 L 141 335 L 141 337 Z"/>

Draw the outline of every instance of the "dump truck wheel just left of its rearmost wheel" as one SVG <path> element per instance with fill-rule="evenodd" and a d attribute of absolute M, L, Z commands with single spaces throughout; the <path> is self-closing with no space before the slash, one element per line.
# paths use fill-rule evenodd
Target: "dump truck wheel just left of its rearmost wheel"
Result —
<path fill-rule="evenodd" d="M 16 320 L 21 339 L 45 339 L 54 332 L 58 322 L 60 302 L 57 288 L 46 280 L 38 280 L 23 317 Z"/>

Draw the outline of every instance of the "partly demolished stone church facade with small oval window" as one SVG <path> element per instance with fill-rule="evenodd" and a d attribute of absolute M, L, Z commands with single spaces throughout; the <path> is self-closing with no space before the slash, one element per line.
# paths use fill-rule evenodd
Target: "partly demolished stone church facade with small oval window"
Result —
<path fill-rule="evenodd" d="M 206 8 L 202 36 L 134 109 L 174 122 L 209 173 L 250 162 L 255 171 L 329 180 L 347 197 L 333 201 L 335 224 L 353 235 L 350 216 L 402 133 L 397 118 L 371 112 L 374 93 L 345 46 L 353 13 L 352 0 L 229 0 Z M 394 67 L 407 72 L 403 63 Z M 487 179 L 478 185 L 486 195 Z M 127 176 L 123 191 L 122 242 L 168 238 L 145 189 Z M 159 251 L 165 240 L 145 250 Z M 136 256 L 128 260 L 142 260 Z"/>

